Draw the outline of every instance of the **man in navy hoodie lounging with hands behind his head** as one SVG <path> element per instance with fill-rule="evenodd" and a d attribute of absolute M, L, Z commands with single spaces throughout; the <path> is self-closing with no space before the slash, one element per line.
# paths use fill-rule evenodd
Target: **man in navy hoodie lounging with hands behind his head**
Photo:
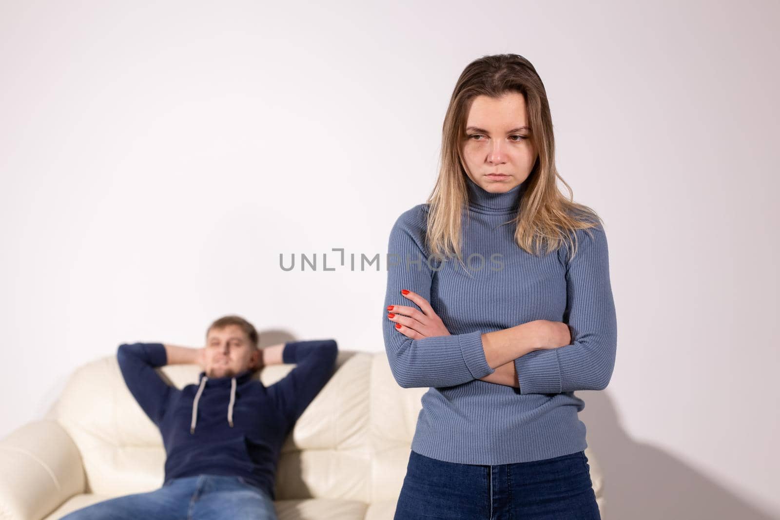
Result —
<path fill-rule="evenodd" d="M 338 348 L 332 339 L 257 348 L 257 331 L 238 316 L 216 320 L 204 348 L 161 343 L 119 345 L 127 387 L 158 426 L 165 444 L 165 483 L 158 490 L 99 502 L 63 518 L 276 517 L 275 472 L 285 437 L 328 382 Z M 198 384 L 171 387 L 155 367 L 197 363 Z M 296 363 L 265 387 L 254 372 Z"/>

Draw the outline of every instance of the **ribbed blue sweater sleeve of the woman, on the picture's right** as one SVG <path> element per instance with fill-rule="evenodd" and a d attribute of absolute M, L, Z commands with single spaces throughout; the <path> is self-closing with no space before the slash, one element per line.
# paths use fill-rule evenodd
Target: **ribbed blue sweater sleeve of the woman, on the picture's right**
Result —
<path fill-rule="evenodd" d="M 604 228 L 578 229 L 576 255 L 566 266 L 566 312 L 572 343 L 515 359 L 520 394 L 604 390 L 617 348 L 615 302 Z"/>

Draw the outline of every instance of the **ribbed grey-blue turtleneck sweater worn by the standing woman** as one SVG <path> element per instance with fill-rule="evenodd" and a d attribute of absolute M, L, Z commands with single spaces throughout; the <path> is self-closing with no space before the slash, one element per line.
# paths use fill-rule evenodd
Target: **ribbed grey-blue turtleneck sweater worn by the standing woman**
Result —
<path fill-rule="evenodd" d="M 427 204 L 401 214 L 390 232 L 388 253 L 399 262 L 388 262 L 385 351 L 399 385 L 429 387 L 412 450 L 479 465 L 584 450 L 585 425 L 577 416 L 584 402 L 574 392 L 607 386 L 617 344 L 604 229 L 591 228 L 593 238 L 578 230 L 571 261 L 567 246 L 533 256 L 514 242 L 511 222 L 528 181 L 506 193 L 466 182 L 462 247 L 473 269 L 452 259 L 426 262 Z M 427 299 L 452 335 L 413 340 L 397 331 L 386 307 L 416 307 L 402 289 Z M 515 359 L 519 388 L 480 380 L 495 370 L 485 360 L 481 334 L 533 320 L 568 324 L 572 343 Z"/>

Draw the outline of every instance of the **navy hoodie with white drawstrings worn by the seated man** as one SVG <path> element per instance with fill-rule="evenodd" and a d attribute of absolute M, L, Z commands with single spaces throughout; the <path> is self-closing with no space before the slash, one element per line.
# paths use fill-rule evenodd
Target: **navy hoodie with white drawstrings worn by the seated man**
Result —
<path fill-rule="evenodd" d="M 274 499 L 285 437 L 328 382 L 337 354 L 332 339 L 290 341 L 282 362 L 297 366 L 270 387 L 246 370 L 218 378 L 201 372 L 198 384 L 181 390 L 154 370 L 168 363 L 161 343 L 119 345 L 117 359 L 129 391 L 160 429 L 165 483 L 200 474 L 240 476 Z"/>

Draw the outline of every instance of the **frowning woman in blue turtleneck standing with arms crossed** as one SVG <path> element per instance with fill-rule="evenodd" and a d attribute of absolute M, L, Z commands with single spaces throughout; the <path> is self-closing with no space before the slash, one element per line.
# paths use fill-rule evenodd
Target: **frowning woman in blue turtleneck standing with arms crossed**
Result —
<path fill-rule="evenodd" d="M 607 241 L 555 185 L 534 66 L 470 63 L 442 137 L 433 193 L 388 246 L 392 373 L 430 387 L 395 518 L 600 518 L 574 391 L 603 390 L 615 363 Z"/>

